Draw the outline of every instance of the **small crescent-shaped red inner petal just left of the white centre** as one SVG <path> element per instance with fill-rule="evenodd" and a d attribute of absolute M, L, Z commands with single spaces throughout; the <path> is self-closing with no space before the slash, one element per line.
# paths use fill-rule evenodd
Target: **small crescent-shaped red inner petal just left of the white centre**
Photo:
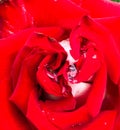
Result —
<path fill-rule="evenodd" d="M 53 56 L 47 56 L 44 58 L 44 60 L 40 63 L 39 69 L 37 71 L 37 80 L 40 84 L 40 86 L 49 94 L 55 95 L 55 96 L 62 96 L 62 90 L 60 85 L 56 82 L 50 79 L 47 75 L 47 71 L 45 68 L 45 65 L 51 61 L 51 58 Z"/>

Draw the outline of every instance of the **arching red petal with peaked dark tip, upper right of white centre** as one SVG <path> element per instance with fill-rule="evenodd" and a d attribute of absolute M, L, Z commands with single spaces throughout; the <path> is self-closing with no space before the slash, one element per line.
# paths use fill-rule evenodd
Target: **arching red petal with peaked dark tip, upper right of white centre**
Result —
<path fill-rule="evenodd" d="M 105 57 L 111 79 L 117 83 L 120 78 L 120 71 L 118 71 L 120 66 L 120 61 L 118 60 L 120 59 L 120 53 L 110 32 L 104 26 L 87 16 L 83 17 L 80 27 L 78 27 L 77 30 L 78 31 L 75 32 L 76 35 L 78 34 L 78 36 L 87 38 L 96 44 L 97 48 Z M 71 42 L 73 52 L 76 51 L 76 47 L 74 47 L 76 44 Z"/>

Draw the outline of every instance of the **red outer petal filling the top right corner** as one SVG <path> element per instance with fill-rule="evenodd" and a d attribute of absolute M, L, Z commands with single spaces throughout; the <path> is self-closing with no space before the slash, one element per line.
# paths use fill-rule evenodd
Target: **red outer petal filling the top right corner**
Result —
<path fill-rule="evenodd" d="M 111 0 L 82 0 L 80 4 L 92 17 L 120 16 L 120 4 Z"/>

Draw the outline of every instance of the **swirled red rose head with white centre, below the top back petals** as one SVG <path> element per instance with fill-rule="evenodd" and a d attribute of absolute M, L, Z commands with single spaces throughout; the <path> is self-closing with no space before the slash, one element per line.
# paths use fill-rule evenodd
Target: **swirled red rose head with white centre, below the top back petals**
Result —
<path fill-rule="evenodd" d="M 70 36 L 32 28 L 0 40 L 1 129 L 113 129 L 120 54 L 105 21 L 85 16 Z"/>

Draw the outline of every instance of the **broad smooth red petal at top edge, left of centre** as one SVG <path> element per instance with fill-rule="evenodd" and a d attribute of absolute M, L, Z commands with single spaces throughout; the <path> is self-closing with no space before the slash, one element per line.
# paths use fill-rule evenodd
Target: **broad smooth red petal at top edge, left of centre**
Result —
<path fill-rule="evenodd" d="M 31 0 L 29 2 L 24 0 L 24 4 L 37 26 L 56 25 L 60 21 L 80 18 L 86 14 L 81 7 L 69 0 Z"/>

